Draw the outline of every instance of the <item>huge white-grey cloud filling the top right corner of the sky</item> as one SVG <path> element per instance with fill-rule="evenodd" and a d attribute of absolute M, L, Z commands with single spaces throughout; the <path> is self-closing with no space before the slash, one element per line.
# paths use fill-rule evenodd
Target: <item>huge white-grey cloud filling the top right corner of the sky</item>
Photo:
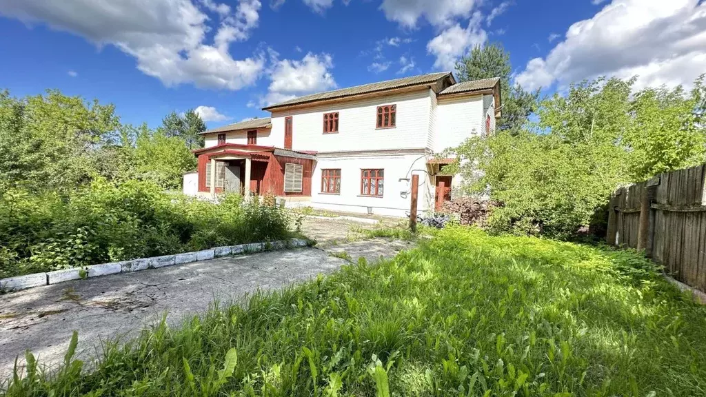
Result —
<path fill-rule="evenodd" d="M 698 0 L 614 0 L 535 58 L 515 81 L 525 88 L 568 85 L 597 76 L 639 75 L 646 85 L 690 86 L 706 71 L 706 3 Z"/>

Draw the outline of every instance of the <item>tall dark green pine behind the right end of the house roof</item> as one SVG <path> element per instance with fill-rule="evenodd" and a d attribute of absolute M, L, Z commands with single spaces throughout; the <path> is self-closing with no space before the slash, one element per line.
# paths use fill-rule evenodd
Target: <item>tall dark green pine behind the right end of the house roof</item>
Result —
<path fill-rule="evenodd" d="M 527 122 L 527 117 L 537 110 L 539 90 L 528 92 L 519 84 L 510 83 L 510 54 L 499 43 L 474 47 L 470 54 L 456 64 L 456 70 L 459 81 L 500 78 L 502 115 L 497 124 L 500 131 L 507 130 L 512 134 L 519 134 Z"/>

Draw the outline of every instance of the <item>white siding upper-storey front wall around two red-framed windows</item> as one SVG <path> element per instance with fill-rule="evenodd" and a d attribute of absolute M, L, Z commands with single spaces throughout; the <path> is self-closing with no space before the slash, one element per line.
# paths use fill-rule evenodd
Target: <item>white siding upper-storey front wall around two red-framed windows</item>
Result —
<path fill-rule="evenodd" d="M 326 153 L 426 148 L 429 142 L 431 93 L 431 90 L 421 90 L 306 109 L 275 111 L 270 136 L 275 146 L 282 147 L 285 117 L 292 116 L 294 150 Z M 376 129 L 376 112 L 380 105 L 397 105 L 395 128 Z M 338 134 L 323 134 L 323 114 L 328 112 L 338 112 Z"/>

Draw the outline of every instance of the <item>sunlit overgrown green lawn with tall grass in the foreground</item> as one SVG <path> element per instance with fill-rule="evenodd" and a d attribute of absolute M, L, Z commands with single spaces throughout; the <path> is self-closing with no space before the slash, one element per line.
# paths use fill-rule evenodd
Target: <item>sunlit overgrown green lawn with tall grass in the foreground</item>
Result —
<path fill-rule="evenodd" d="M 704 396 L 706 309 L 638 254 L 453 227 L 79 371 L 8 396 Z"/>

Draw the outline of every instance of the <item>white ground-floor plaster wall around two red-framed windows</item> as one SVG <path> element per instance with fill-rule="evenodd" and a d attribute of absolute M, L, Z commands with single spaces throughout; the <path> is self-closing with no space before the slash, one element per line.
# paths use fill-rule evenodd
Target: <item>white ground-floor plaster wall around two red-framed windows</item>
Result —
<path fill-rule="evenodd" d="M 340 194 L 321 193 L 321 170 L 341 170 Z M 385 170 L 383 197 L 360 194 L 361 170 Z M 336 158 L 318 158 L 311 183 L 311 206 L 332 211 L 367 213 L 368 207 L 378 215 L 405 216 L 411 204 L 412 174 L 419 174 L 417 210 L 422 213 L 433 208 L 433 184 L 426 172 L 426 155 L 350 155 Z"/>

